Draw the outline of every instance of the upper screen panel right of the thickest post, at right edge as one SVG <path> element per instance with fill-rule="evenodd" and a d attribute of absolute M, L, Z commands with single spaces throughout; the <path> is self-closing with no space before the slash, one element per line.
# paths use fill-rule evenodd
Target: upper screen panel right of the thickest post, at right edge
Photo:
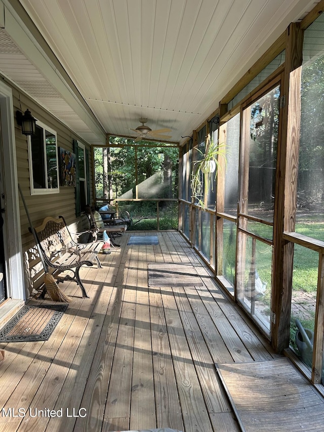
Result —
<path fill-rule="evenodd" d="M 296 231 L 324 240 L 324 16 L 305 30 Z"/>

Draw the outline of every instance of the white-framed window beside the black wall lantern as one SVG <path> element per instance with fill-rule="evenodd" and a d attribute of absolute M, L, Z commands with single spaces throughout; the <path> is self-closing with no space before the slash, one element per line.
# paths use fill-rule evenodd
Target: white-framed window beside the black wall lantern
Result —
<path fill-rule="evenodd" d="M 56 132 L 37 122 L 28 151 L 31 194 L 59 192 Z"/>

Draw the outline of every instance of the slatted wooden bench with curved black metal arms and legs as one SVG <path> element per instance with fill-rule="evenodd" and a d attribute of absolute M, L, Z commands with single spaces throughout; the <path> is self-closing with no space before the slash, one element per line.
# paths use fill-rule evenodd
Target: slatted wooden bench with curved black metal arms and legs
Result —
<path fill-rule="evenodd" d="M 104 242 L 95 240 L 91 243 L 76 243 L 63 216 L 59 216 L 57 219 L 46 217 L 41 225 L 35 227 L 35 232 L 46 264 L 56 271 L 57 282 L 75 281 L 79 285 L 83 297 L 89 298 L 80 280 L 79 270 L 84 265 L 90 267 L 94 263 L 102 268 L 98 253 Z M 71 271 L 73 277 L 70 274 L 66 274 L 64 277 L 58 276 L 66 270 Z M 46 289 L 42 292 L 43 298 L 45 293 Z"/>

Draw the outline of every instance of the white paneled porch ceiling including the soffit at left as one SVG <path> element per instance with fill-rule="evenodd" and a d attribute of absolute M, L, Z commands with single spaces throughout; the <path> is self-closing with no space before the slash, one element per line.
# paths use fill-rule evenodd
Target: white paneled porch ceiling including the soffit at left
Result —
<path fill-rule="evenodd" d="M 207 119 L 289 23 L 318 3 L 1 1 L 0 70 L 91 143 L 102 142 L 105 133 L 128 135 L 140 117 L 148 119 L 151 129 L 170 128 L 170 140 L 182 142 L 181 136 L 191 135 Z M 26 27 L 31 44 L 16 34 L 19 25 Z M 53 66 L 37 29 L 66 76 Z M 8 52 L 1 49 L 2 37 L 4 45 L 6 37 L 12 43 Z"/>

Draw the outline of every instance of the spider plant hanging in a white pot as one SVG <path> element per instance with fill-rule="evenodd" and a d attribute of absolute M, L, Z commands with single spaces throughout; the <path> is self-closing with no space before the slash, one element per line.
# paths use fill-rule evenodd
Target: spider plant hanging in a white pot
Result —
<path fill-rule="evenodd" d="M 210 134 L 208 134 L 206 139 L 205 153 L 198 148 L 197 151 L 203 155 L 203 158 L 200 161 L 192 162 L 191 198 L 194 203 L 201 206 L 205 211 L 205 197 L 208 196 L 210 188 L 213 190 L 213 180 L 216 180 L 217 172 L 220 168 L 218 158 L 219 156 L 225 156 L 227 151 L 225 144 L 213 142 Z"/>

